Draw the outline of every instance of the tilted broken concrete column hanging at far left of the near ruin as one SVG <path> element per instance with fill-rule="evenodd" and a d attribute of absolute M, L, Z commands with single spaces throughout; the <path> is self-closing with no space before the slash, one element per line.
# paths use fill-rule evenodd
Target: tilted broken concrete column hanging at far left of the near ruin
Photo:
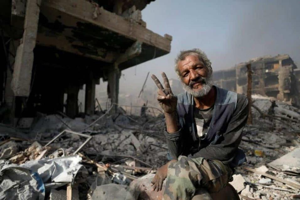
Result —
<path fill-rule="evenodd" d="M 12 89 L 15 96 L 29 96 L 33 49 L 38 29 L 41 0 L 27 0 L 24 33 L 13 68 Z"/>

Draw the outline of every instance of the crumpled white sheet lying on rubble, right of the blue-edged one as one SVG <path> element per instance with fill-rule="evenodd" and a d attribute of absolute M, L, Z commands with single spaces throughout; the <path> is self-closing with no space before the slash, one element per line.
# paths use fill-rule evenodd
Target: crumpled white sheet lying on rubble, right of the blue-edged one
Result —
<path fill-rule="evenodd" d="M 32 160 L 20 166 L 38 172 L 44 183 L 72 182 L 83 166 L 80 164 L 81 160 L 79 155 L 72 155 L 54 159 Z"/>

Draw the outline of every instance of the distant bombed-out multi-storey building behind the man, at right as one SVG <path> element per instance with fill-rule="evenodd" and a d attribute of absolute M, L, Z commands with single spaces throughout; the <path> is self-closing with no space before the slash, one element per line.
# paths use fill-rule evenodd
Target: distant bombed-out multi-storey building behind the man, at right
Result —
<path fill-rule="evenodd" d="M 247 94 L 247 64 L 251 64 L 252 94 L 274 97 L 300 106 L 300 71 L 289 55 L 266 56 L 213 73 L 214 84 Z"/>

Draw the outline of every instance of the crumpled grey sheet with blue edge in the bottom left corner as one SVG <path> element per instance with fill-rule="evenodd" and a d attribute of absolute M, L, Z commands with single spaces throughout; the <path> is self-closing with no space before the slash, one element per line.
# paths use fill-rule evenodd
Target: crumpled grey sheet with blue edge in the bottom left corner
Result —
<path fill-rule="evenodd" d="M 4 165 L 0 178 L 0 200 L 45 198 L 45 187 L 37 172 L 16 165 Z"/>

